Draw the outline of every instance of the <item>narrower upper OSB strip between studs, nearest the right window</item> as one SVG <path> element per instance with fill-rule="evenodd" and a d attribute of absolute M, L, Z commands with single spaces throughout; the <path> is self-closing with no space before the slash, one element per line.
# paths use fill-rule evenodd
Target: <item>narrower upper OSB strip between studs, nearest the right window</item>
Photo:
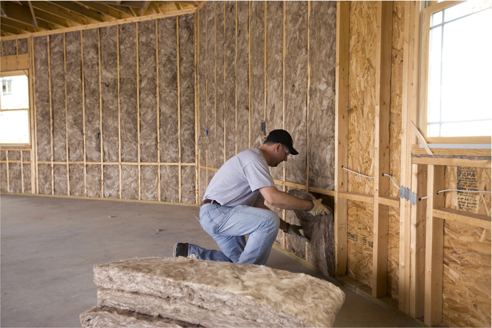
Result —
<path fill-rule="evenodd" d="M 404 1 L 393 1 L 393 39 L 390 102 L 390 172 L 400 186 L 401 107 L 403 92 L 403 15 Z M 385 172 L 386 173 L 386 172 Z M 389 179 L 389 178 L 388 178 Z M 390 196 L 399 197 L 400 190 L 390 182 Z"/>

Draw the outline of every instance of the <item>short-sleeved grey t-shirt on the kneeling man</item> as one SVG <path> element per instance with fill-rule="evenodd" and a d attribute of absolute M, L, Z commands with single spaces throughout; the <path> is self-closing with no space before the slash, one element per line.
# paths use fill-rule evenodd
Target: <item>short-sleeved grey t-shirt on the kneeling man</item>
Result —
<path fill-rule="evenodd" d="M 251 206 L 264 201 L 258 189 L 275 187 L 263 152 L 246 149 L 225 162 L 209 183 L 203 199 L 214 199 L 223 206 Z"/>

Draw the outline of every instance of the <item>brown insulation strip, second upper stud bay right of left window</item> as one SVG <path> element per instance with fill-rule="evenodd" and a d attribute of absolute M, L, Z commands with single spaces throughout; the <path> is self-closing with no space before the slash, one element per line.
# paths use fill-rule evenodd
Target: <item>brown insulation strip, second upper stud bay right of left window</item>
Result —
<path fill-rule="evenodd" d="M 53 160 L 55 162 L 66 162 L 66 107 L 63 46 L 63 34 L 50 35 Z M 55 186 L 55 194 L 59 194 L 57 193 L 57 189 L 61 190 Z"/>

